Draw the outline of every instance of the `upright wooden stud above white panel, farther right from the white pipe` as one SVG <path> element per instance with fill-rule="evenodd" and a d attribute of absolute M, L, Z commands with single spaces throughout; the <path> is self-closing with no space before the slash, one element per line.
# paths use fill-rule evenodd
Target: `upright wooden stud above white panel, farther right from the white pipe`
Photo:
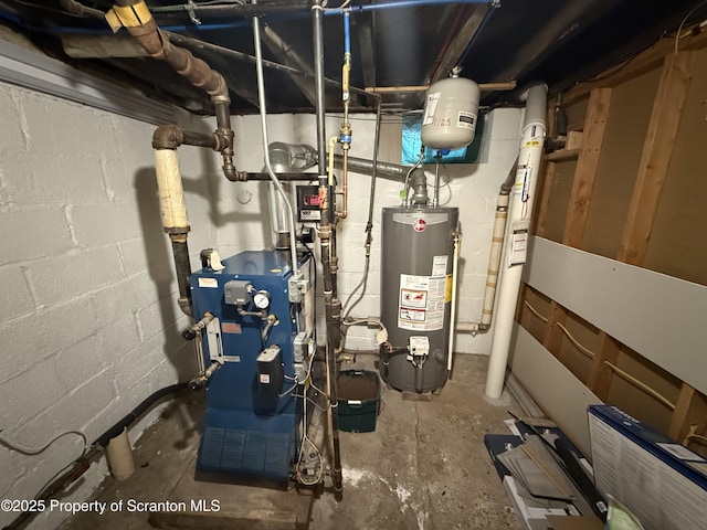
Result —
<path fill-rule="evenodd" d="M 619 247 L 622 262 L 641 265 L 645 258 L 696 56 L 697 52 L 680 52 L 665 57 Z"/>

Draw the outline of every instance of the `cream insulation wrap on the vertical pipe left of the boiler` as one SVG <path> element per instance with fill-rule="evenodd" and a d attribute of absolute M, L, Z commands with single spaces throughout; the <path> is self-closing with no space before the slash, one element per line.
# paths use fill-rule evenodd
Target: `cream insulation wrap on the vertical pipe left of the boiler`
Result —
<path fill-rule="evenodd" d="M 182 229 L 182 232 L 188 232 L 189 221 L 187 220 L 187 205 L 179 174 L 177 150 L 156 149 L 155 169 L 165 231 L 172 232 L 173 229 Z"/>

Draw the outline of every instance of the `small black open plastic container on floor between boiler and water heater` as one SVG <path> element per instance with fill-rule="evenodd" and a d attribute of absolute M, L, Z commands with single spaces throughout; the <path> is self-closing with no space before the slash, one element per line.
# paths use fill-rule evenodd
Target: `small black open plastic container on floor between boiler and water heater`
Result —
<path fill-rule="evenodd" d="M 339 430 L 349 433 L 376 431 L 380 411 L 380 380 L 376 372 L 345 370 L 337 379 Z"/>

